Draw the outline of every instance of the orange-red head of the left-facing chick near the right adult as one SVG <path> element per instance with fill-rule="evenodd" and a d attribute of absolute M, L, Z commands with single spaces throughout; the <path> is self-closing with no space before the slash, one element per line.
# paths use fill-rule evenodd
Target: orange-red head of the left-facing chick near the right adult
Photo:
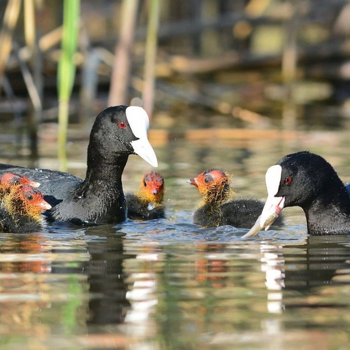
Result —
<path fill-rule="evenodd" d="M 221 169 L 205 170 L 187 182 L 198 188 L 205 203 L 222 203 L 232 194 L 230 180 Z"/>

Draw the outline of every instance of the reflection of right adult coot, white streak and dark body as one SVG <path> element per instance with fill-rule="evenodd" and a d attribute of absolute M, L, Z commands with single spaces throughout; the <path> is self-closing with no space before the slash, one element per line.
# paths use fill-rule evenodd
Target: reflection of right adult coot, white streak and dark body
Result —
<path fill-rule="evenodd" d="M 321 287 L 349 285 L 349 244 L 348 236 L 310 236 L 298 245 L 261 243 L 268 312 L 344 307 L 335 289 Z"/>

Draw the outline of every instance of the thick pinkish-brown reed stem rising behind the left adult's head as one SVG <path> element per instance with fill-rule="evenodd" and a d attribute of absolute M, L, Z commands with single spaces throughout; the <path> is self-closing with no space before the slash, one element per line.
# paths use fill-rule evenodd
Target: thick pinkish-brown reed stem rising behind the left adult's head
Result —
<path fill-rule="evenodd" d="M 123 0 L 120 13 L 120 35 L 115 50 L 108 106 L 127 103 L 137 8 L 138 0 Z"/>

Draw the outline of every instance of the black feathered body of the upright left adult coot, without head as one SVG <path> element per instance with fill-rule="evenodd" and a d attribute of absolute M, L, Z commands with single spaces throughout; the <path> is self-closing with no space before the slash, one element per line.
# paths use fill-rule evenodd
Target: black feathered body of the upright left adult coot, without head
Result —
<path fill-rule="evenodd" d="M 45 212 L 49 221 L 78 225 L 123 222 L 126 204 L 121 175 L 127 156 L 118 165 L 99 164 L 98 171 L 87 173 L 83 182 L 76 176 L 49 169 L 28 169 L 0 164 L 0 172 L 19 172 L 40 182 L 40 191 L 52 209 Z M 114 174 L 114 176 L 110 176 Z"/>

